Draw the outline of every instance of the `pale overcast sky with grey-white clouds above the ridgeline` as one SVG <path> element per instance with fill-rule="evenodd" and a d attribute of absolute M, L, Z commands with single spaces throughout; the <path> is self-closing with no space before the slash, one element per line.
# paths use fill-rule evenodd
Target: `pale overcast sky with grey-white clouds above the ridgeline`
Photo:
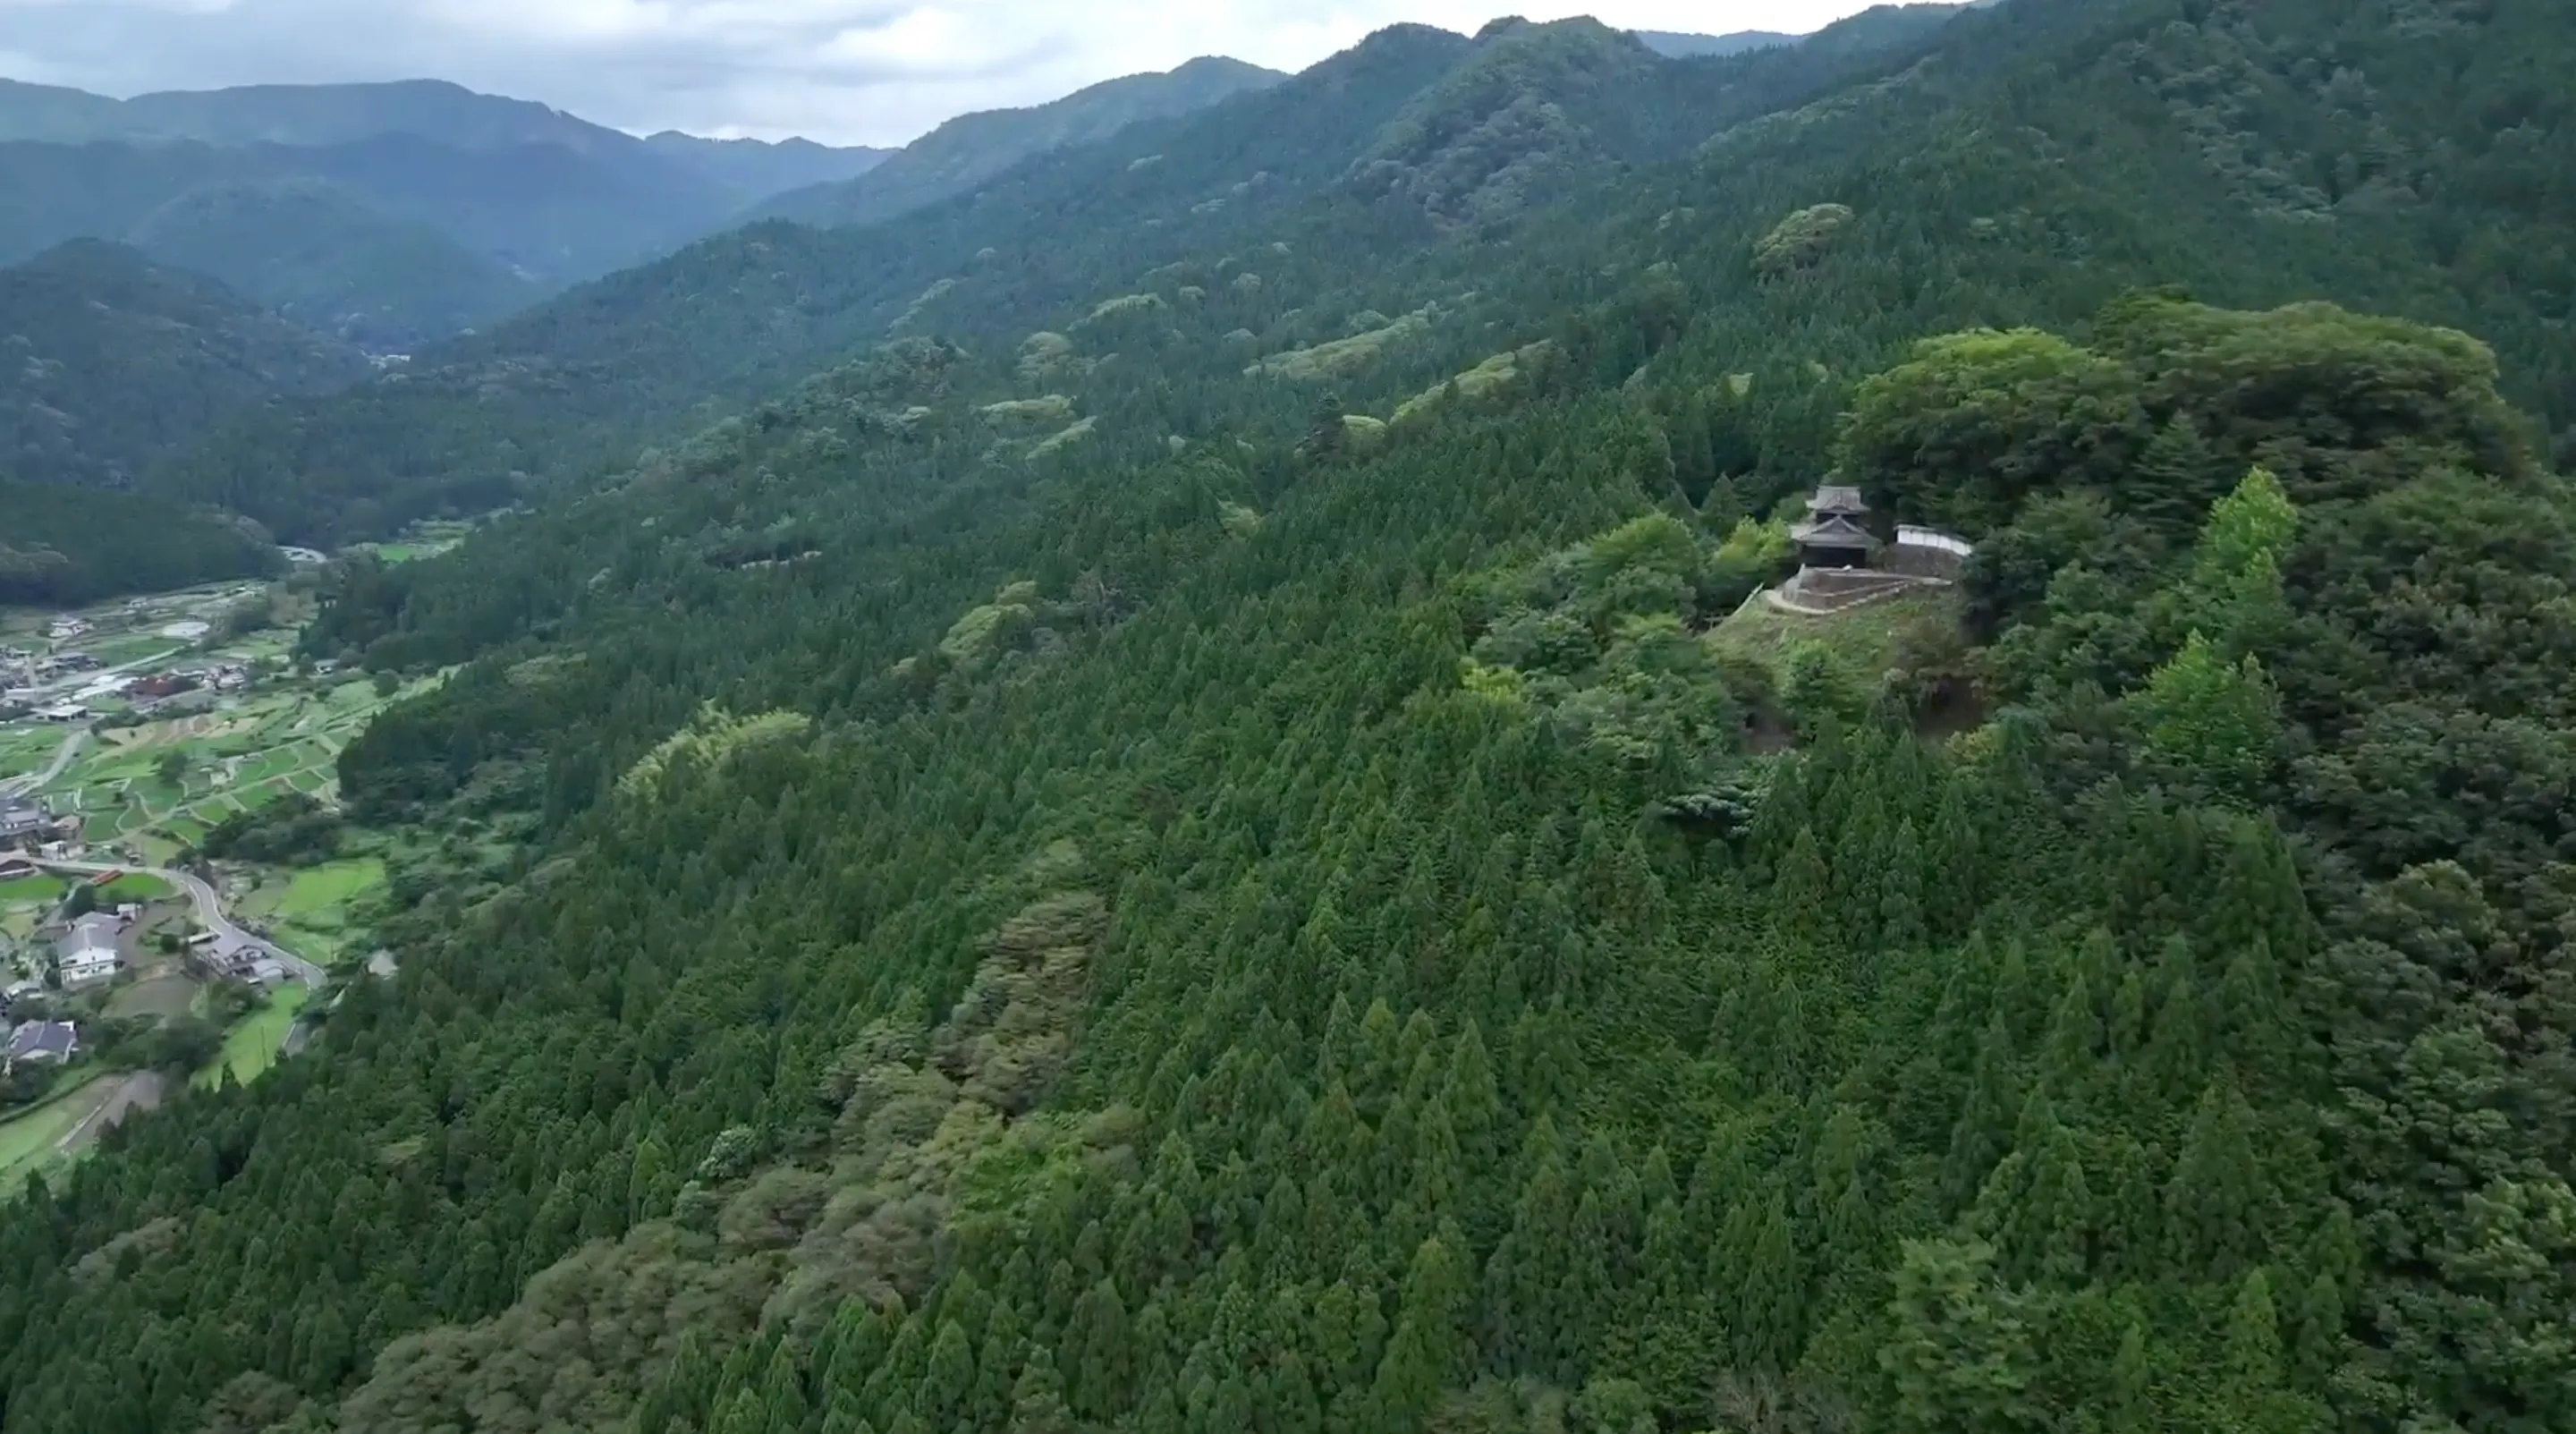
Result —
<path fill-rule="evenodd" d="M 1231 54 L 1301 70 L 1396 21 L 1811 31 L 1865 0 L 0 0 L 0 77 L 106 95 L 456 80 L 631 131 L 902 144 Z"/>

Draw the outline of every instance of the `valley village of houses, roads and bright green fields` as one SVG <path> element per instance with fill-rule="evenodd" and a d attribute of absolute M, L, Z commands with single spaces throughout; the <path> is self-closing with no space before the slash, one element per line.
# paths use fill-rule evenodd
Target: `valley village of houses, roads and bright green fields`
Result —
<path fill-rule="evenodd" d="M 0 1195 L 185 1084 L 258 1079 L 317 991 L 386 971 L 368 850 L 214 857 L 337 826 L 337 754 L 397 693 L 294 651 L 291 584 L 0 613 Z"/>

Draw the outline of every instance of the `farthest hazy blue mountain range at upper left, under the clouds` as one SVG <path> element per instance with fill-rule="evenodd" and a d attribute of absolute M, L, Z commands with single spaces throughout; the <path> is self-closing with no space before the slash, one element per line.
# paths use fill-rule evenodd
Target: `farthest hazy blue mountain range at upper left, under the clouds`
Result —
<path fill-rule="evenodd" d="M 131 100 L 0 82 L 0 263 L 118 239 L 307 327 L 407 350 L 873 160 L 636 139 L 428 80 Z"/>

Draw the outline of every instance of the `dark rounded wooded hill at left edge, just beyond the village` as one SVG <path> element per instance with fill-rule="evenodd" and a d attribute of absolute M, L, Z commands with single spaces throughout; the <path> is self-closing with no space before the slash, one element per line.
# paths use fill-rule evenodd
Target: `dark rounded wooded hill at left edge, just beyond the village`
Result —
<path fill-rule="evenodd" d="M 129 484 L 155 456 L 368 363 L 142 252 L 75 239 L 0 268 L 0 476 Z"/>

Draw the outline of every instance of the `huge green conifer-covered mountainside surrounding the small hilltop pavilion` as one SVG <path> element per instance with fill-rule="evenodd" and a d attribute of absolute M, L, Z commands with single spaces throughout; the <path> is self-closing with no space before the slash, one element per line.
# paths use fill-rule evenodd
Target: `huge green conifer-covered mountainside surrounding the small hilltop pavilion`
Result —
<path fill-rule="evenodd" d="M 2576 1429 L 2576 13 L 1932 21 L 1386 31 L 162 476 L 523 507 L 335 569 L 399 976 L 0 1210 L 0 1431 Z M 1819 481 L 1950 602 L 1747 641 Z"/>

